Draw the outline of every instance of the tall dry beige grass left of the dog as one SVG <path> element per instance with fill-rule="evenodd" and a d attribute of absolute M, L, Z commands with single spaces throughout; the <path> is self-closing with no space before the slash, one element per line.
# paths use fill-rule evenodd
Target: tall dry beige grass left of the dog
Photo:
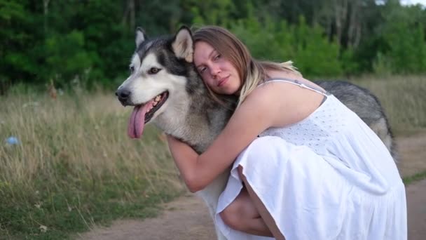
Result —
<path fill-rule="evenodd" d="M 2 102 L 7 104 L 0 107 L 0 138 L 16 136 L 21 142 L 0 145 L 4 182 L 29 186 L 39 175 L 55 178 L 58 164 L 82 178 L 124 171 L 157 182 L 175 175 L 158 131 L 146 129 L 142 141 L 128 138 L 131 109 L 123 109 L 112 94 L 65 95 L 57 100 L 21 95 Z"/>

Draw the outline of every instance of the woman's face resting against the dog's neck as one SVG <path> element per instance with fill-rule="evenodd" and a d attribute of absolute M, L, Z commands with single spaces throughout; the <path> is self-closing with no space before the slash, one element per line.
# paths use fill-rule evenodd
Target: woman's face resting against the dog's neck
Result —
<path fill-rule="evenodd" d="M 241 79 L 237 69 L 205 41 L 195 43 L 194 63 L 202 80 L 218 94 L 236 94 Z"/>

